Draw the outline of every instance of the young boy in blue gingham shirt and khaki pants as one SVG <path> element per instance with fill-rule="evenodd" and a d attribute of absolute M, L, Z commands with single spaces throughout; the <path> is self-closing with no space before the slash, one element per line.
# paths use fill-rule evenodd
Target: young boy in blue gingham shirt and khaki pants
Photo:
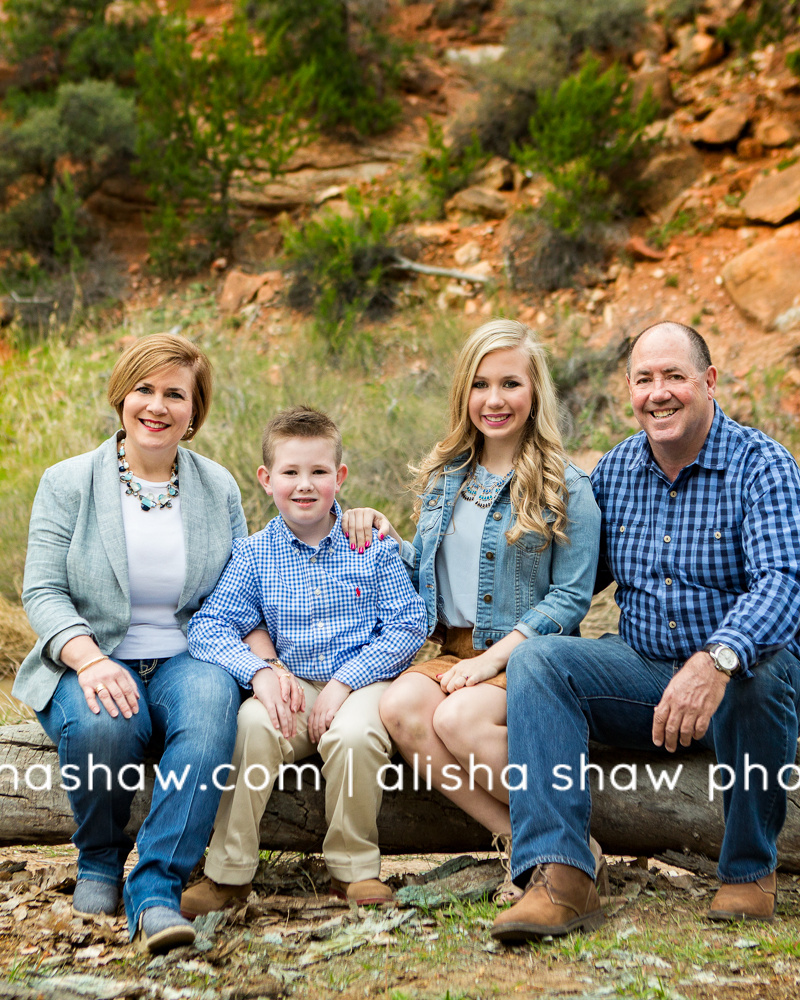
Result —
<path fill-rule="evenodd" d="M 347 467 L 332 420 L 307 406 L 284 410 L 267 424 L 262 450 L 258 481 L 278 516 L 234 542 L 216 589 L 189 624 L 192 656 L 221 664 L 253 690 L 239 710 L 236 783 L 220 802 L 206 877 L 181 899 L 190 917 L 247 897 L 280 766 L 315 750 L 323 760 L 332 891 L 362 904 L 392 896 L 378 877 L 377 774 L 392 753 L 378 701 L 425 641 L 425 606 L 392 539 L 351 552 L 335 499 Z M 262 622 L 272 642 L 261 633 L 259 650 L 268 659 L 242 641 Z"/>

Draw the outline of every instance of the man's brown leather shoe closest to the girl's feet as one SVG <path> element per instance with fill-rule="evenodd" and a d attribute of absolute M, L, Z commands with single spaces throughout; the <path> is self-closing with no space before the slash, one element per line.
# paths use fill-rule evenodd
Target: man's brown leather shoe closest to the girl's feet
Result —
<path fill-rule="evenodd" d="M 498 941 L 594 930 L 605 917 L 594 882 L 571 865 L 537 865 L 522 899 L 498 915 L 491 930 Z"/>

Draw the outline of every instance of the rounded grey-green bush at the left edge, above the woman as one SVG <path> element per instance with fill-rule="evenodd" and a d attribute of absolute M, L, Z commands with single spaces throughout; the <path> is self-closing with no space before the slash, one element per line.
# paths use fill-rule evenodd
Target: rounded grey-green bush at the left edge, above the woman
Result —
<path fill-rule="evenodd" d="M 74 259 L 80 207 L 133 154 L 133 99 L 111 81 L 62 84 L 52 106 L 0 126 L 0 246 Z M 69 246 L 68 246 L 69 244 Z"/>

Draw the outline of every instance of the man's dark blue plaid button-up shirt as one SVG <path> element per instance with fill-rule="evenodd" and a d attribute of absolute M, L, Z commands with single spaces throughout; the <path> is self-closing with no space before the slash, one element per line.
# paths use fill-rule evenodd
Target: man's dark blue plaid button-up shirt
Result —
<path fill-rule="evenodd" d="M 700 454 L 674 483 L 644 431 L 600 460 L 600 559 L 629 646 L 685 661 L 721 642 L 748 674 L 779 649 L 800 658 L 800 471 L 777 442 L 714 409 Z"/>

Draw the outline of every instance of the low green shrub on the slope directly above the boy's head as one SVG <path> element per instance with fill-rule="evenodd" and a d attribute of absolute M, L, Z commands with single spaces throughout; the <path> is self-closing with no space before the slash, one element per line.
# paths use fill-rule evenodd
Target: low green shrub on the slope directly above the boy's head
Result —
<path fill-rule="evenodd" d="M 352 214 L 329 212 L 284 232 L 284 251 L 293 279 L 289 302 L 313 308 L 317 333 L 332 355 L 345 351 L 363 316 L 392 304 L 388 269 L 395 257 L 392 234 L 397 206 L 367 206 L 355 189 L 347 193 Z"/>

